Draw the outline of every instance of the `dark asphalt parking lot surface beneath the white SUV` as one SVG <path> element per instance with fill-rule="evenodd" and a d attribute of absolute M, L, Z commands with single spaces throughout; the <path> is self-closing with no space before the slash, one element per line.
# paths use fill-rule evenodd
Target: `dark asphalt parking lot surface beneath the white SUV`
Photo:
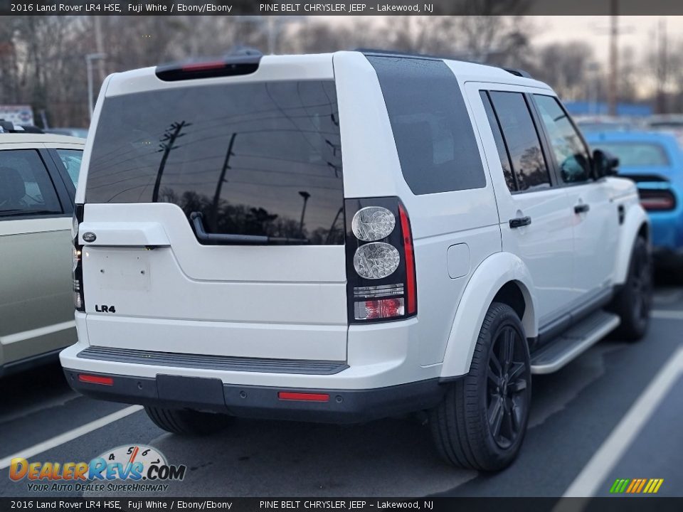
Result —
<path fill-rule="evenodd" d="M 445 465 L 415 417 L 346 426 L 238 420 L 211 437 L 179 437 L 129 405 L 74 393 L 58 366 L 0 380 L 0 459 L 46 441 L 29 462 L 89 461 L 147 444 L 188 466 L 164 496 L 562 496 L 596 479 L 593 494 L 606 496 L 617 478 L 664 479 L 658 494 L 683 496 L 683 368 L 642 425 L 615 437 L 634 430 L 646 390 L 683 346 L 683 288 L 657 289 L 654 308 L 640 343 L 607 339 L 557 373 L 534 376 L 524 447 L 499 474 Z M 78 437 L 72 432 L 117 411 L 126 415 Z M 601 458 L 610 450 L 610 460 Z M 11 481 L 0 463 L 0 496 L 50 495 L 83 492 L 36 494 L 25 480 Z"/>

